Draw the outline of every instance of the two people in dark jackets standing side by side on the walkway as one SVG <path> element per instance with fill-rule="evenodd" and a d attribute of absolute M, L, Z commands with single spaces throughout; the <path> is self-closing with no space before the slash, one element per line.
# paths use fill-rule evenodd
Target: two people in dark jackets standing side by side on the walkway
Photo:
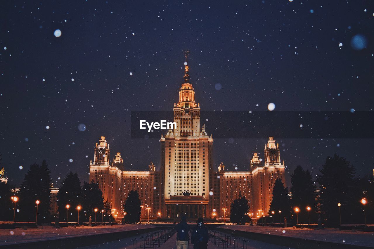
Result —
<path fill-rule="evenodd" d="M 194 249 L 208 248 L 208 229 L 206 229 L 203 218 L 197 219 L 197 225 L 193 228 L 191 233 L 191 244 Z M 182 216 L 181 222 L 177 224 L 177 249 L 188 249 L 188 240 L 190 236 L 190 225 L 186 222 L 186 216 Z"/>

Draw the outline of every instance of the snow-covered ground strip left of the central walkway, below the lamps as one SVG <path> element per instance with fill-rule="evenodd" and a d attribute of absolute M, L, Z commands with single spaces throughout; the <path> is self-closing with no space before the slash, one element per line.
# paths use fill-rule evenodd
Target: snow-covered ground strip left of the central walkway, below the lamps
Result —
<path fill-rule="evenodd" d="M 112 225 L 96 227 L 43 227 L 43 229 L 23 228 L 0 229 L 0 246 L 14 243 L 32 242 L 40 240 L 62 239 L 67 237 L 79 237 L 90 234 L 113 233 L 119 231 L 130 231 L 154 227 L 154 225 L 137 224 L 137 225 Z"/>

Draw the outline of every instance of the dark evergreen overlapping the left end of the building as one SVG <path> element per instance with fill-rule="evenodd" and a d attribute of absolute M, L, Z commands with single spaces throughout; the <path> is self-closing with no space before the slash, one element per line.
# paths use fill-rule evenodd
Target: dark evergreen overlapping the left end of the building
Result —
<path fill-rule="evenodd" d="M 83 182 L 82 186 L 82 207 L 86 211 L 86 220 L 91 215 L 95 217 L 94 209 L 102 210 L 104 207 L 104 199 L 102 198 L 102 192 L 99 189 L 97 183 L 91 181 L 91 183 Z"/>

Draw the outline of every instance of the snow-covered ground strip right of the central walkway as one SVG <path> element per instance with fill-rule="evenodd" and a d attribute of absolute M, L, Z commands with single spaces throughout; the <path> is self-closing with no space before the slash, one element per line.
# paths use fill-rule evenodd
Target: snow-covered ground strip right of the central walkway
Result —
<path fill-rule="evenodd" d="M 322 230 L 316 230 L 308 228 L 281 228 L 249 225 L 227 225 L 221 226 L 221 228 L 240 231 L 250 231 L 254 233 L 274 234 L 287 237 L 297 237 L 301 239 L 374 247 L 374 232 L 363 232 L 356 230 L 340 231 L 338 228 L 326 228 Z"/>

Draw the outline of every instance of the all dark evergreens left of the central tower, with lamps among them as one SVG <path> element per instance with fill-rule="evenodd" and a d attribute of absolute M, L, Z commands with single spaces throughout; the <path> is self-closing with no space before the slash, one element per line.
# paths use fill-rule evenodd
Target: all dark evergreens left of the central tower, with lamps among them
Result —
<path fill-rule="evenodd" d="M 1 161 L 1 154 L 0 154 Z M 70 172 L 61 182 L 61 187 L 56 195 L 57 213 L 51 213 L 51 190 L 53 187 L 50 170 L 46 160 L 39 165 L 33 163 L 25 174 L 19 191 L 15 186 L 0 182 L 0 221 L 36 221 L 38 224 L 55 221 L 59 216 L 60 222 L 77 222 L 79 210 L 79 222 L 88 222 L 92 216 L 92 222 L 104 222 L 113 220 L 111 203 L 103 199 L 102 191 L 97 182 L 82 182 L 78 174 Z M 18 197 L 14 203 L 12 197 Z M 39 200 L 39 204 L 36 201 Z M 16 204 L 16 206 L 14 205 Z M 67 206 L 68 205 L 68 206 Z M 37 212 L 36 212 L 37 211 Z M 141 200 L 137 190 L 132 190 L 123 205 L 126 213 L 125 223 L 134 224 L 140 221 Z"/>

